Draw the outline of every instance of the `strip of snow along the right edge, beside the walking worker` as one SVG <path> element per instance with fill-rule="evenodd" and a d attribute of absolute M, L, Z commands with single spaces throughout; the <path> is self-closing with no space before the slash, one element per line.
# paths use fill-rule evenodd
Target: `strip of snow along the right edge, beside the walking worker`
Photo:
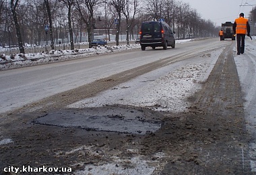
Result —
<path fill-rule="evenodd" d="M 256 172 L 256 36 L 253 36 L 253 41 L 247 39 L 245 41 L 245 54 L 237 55 L 236 47 L 233 48 L 234 62 L 238 72 L 241 83 L 243 97 L 245 98 L 244 110 L 246 126 L 252 138 L 249 142 L 249 164 L 251 165 L 251 172 Z"/>

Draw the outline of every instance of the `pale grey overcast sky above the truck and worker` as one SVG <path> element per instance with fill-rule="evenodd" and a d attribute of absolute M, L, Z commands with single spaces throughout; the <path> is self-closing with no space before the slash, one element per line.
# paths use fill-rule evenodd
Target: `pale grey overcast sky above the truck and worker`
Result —
<path fill-rule="evenodd" d="M 197 13 L 203 19 L 210 19 L 216 25 L 221 25 L 225 21 L 234 21 L 239 13 L 245 13 L 245 17 L 249 17 L 252 6 L 240 5 L 256 5 L 256 0 L 181 0 L 189 3 L 192 9 L 197 9 Z"/>

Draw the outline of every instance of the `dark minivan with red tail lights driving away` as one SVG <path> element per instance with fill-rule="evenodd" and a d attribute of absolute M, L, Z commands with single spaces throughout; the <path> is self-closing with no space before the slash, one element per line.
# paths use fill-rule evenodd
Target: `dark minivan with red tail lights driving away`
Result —
<path fill-rule="evenodd" d="M 175 39 L 170 29 L 170 26 L 164 21 L 147 21 L 141 24 L 140 45 L 141 50 L 146 47 L 163 47 L 164 50 L 167 46 L 175 48 Z"/>

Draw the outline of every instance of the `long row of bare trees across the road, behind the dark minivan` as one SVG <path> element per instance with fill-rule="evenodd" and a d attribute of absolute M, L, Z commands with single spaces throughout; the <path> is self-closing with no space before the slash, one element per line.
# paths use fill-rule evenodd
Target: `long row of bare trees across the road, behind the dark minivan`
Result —
<path fill-rule="evenodd" d="M 48 36 L 52 50 L 59 38 L 69 38 L 73 50 L 77 36 L 86 32 L 91 48 L 97 26 L 108 36 L 114 30 L 118 46 L 121 30 L 129 44 L 129 36 L 139 33 L 141 22 L 152 19 L 164 19 L 177 38 L 218 34 L 212 21 L 177 0 L 0 0 L 0 44 L 18 43 L 24 53 L 24 43 L 40 45 Z"/>

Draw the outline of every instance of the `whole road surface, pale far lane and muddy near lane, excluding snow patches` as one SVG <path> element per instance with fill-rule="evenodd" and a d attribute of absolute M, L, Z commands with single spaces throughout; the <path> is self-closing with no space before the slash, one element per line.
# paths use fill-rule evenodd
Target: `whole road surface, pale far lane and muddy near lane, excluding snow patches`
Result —
<path fill-rule="evenodd" d="M 132 160 L 139 158 L 138 174 L 253 174 L 254 139 L 247 128 L 253 112 L 247 107 L 255 100 L 244 109 L 234 46 L 231 41 L 208 39 L 166 51 L 148 48 L 0 72 L 5 82 L 0 84 L 0 134 L 13 140 L 0 145 L 0 168 L 47 165 L 96 174 L 95 165 L 107 162 L 127 170 L 123 174 L 134 174 Z M 172 113 L 127 105 L 67 108 L 143 74 L 165 66 L 174 70 L 177 63 L 193 64 L 200 56 L 217 51 L 220 55 L 209 78 L 189 98 L 189 111 Z M 251 62 L 244 66 L 255 65 L 253 56 L 248 57 Z M 248 72 L 253 75 L 253 69 Z M 242 81 L 243 87 L 253 84 L 253 80 Z M 110 126 L 155 129 L 129 133 L 122 127 L 119 132 L 100 129 L 98 123 L 106 124 L 106 120 Z M 144 160 L 151 161 L 150 166 Z"/>

